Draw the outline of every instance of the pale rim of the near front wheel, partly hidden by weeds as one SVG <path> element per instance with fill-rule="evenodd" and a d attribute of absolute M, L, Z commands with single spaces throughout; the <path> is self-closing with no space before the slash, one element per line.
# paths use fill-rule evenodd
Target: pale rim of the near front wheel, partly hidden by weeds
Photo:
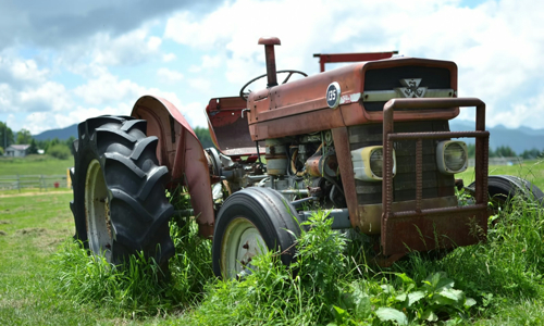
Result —
<path fill-rule="evenodd" d="M 234 218 L 223 236 L 221 244 L 221 267 L 226 278 L 235 278 L 251 267 L 258 254 L 267 253 L 268 247 L 259 229 L 245 217 Z"/>

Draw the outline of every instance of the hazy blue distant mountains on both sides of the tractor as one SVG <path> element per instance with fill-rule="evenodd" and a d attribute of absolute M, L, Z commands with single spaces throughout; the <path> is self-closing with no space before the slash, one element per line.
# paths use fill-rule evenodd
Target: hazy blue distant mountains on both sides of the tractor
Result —
<path fill-rule="evenodd" d="M 452 131 L 474 130 L 475 123 L 466 120 L 452 120 L 449 122 Z M 544 129 L 532 129 L 519 127 L 509 129 L 503 125 L 487 127 L 491 133 L 490 148 L 496 149 L 499 146 L 509 146 L 516 153 L 521 154 L 524 150 L 533 148 L 544 150 Z M 77 125 L 72 125 L 63 129 L 47 130 L 34 136 L 36 140 L 59 138 L 66 140 L 70 136 L 77 138 Z M 472 143 L 473 138 L 466 138 L 465 141 Z"/>

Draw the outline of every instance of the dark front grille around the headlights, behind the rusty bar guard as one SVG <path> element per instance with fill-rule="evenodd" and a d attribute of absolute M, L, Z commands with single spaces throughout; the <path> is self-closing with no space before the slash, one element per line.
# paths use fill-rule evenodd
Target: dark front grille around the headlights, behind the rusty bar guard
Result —
<path fill-rule="evenodd" d="M 449 131 L 447 121 L 396 123 L 395 133 Z M 382 145 L 383 125 L 348 127 L 350 150 Z M 453 175 L 442 174 L 436 166 L 436 140 L 423 140 L 423 199 L 454 196 Z M 394 142 L 397 174 L 393 178 L 393 200 L 416 200 L 416 141 Z M 382 202 L 381 181 L 355 180 L 357 201 L 360 205 Z"/>

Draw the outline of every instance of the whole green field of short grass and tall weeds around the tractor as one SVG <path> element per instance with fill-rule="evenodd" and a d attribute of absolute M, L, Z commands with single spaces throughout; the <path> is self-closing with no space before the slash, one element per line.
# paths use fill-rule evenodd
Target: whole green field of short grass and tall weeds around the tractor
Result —
<path fill-rule="evenodd" d="M 544 189 L 536 161 L 490 174 Z M 244 281 L 221 281 L 211 242 L 190 220 L 171 223 L 170 277 L 141 258 L 121 269 L 87 255 L 71 238 L 71 200 L 0 191 L 0 325 L 544 324 L 544 211 L 532 202 L 500 212 L 486 243 L 441 259 L 415 253 L 390 268 L 369 263 L 368 238 L 332 231 L 321 214 L 299 239 L 297 273 L 269 254 Z"/>

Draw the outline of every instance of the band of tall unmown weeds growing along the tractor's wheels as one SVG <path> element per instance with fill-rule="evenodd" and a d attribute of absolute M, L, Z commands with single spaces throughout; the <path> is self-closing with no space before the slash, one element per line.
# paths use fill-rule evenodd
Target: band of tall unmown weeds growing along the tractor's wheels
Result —
<path fill-rule="evenodd" d="M 176 198 L 186 208 L 188 198 Z M 269 252 L 242 280 L 213 277 L 210 241 L 194 217 L 176 217 L 170 278 L 143 256 L 119 269 L 72 243 L 58 255 L 58 275 L 77 302 L 114 305 L 123 316 L 168 313 L 181 325 L 541 325 L 543 214 L 515 200 L 490 217 L 486 242 L 380 268 L 370 263 L 372 238 L 332 230 L 320 212 L 301 225 L 295 264 Z"/>

